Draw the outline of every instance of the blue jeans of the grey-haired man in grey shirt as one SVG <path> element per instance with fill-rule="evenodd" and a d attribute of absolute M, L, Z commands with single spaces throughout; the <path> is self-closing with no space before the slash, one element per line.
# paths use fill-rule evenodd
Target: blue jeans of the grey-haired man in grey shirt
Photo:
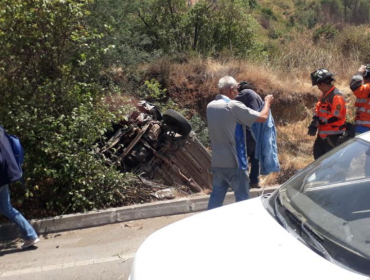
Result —
<path fill-rule="evenodd" d="M 212 168 L 212 193 L 208 202 L 208 210 L 222 206 L 227 190 L 232 188 L 235 200 L 249 198 L 249 178 L 246 170 L 237 168 Z"/>

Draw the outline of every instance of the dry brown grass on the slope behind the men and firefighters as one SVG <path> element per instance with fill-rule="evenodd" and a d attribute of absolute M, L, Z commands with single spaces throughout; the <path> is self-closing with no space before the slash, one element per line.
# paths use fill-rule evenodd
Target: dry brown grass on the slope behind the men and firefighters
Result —
<path fill-rule="evenodd" d="M 356 28 L 359 30 L 343 30 L 334 41 L 317 43 L 312 40 L 313 31 L 292 32 L 280 42 L 279 52 L 265 62 L 224 56 L 218 60 L 188 58 L 182 63 L 159 61 L 148 68 L 148 78 L 162 78 L 168 94 L 180 107 L 204 119 L 207 104 L 216 95 L 218 80 L 223 76 L 247 80 L 262 97 L 273 94 L 281 171 L 262 178 L 262 184 L 280 184 L 313 161 L 315 138 L 307 135 L 307 126 L 321 93 L 311 85 L 312 71 L 328 68 L 337 74 L 335 84 L 347 99 L 349 119 L 353 117 L 355 98 L 349 81 L 361 64 L 370 62 L 360 60 L 360 50 L 367 46 L 356 47 L 360 35 L 368 30 Z"/>

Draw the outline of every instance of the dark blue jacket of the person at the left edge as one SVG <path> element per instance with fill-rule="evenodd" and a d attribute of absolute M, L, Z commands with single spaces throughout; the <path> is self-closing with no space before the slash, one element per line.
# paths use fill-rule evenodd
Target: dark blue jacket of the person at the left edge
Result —
<path fill-rule="evenodd" d="M 20 180 L 22 173 L 15 160 L 13 149 L 10 146 L 5 130 L 0 126 L 0 186 Z"/>

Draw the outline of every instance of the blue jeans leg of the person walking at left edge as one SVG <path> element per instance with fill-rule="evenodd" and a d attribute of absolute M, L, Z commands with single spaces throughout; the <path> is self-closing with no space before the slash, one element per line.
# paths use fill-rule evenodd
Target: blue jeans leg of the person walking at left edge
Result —
<path fill-rule="evenodd" d="M 37 234 L 29 222 L 23 217 L 18 210 L 10 204 L 9 186 L 0 187 L 0 213 L 9 220 L 16 223 L 24 240 L 37 238 Z"/>

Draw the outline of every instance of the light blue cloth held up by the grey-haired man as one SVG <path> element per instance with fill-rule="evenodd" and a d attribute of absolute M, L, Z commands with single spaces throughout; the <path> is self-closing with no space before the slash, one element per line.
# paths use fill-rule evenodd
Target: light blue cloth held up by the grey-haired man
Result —
<path fill-rule="evenodd" d="M 261 111 L 263 106 L 261 106 Z M 254 138 L 256 139 L 256 149 L 254 157 L 260 161 L 260 172 L 268 175 L 271 172 L 280 171 L 280 164 L 277 153 L 276 129 L 274 118 L 269 112 L 269 116 L 264 123 L 254 123 L 251 127 Z"/>

